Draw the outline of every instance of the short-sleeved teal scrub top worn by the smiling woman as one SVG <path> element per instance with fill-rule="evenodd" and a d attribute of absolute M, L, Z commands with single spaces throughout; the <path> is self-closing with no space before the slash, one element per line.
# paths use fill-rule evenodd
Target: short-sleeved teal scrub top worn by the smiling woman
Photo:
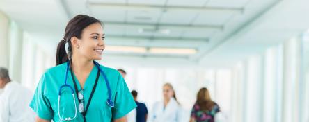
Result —
<path fill-rule="evenodd" d="M 115 119 L 120 119 L 136 107 L 132 94 L 129 92 L 127 84 L 120 73 L 115 69 L 104 67 L 102 65 L 100 67 L 109 80 L 112 100 L 115 103 L 115 107 L 110 107 L 106 103 L 109 93 L 106 87 L 106 81 L 100 73 L 97 87 L 86 114 L 86 121 L 112 121 Z M 65 84 L 66 68 L 67 64 L 63 63 L 56 67 L 52 67 L 51 69 L 47 69 L 38 83 L 38 87 L 35 90 L 30 107 L 41 119 L 53 120 L 54 122 L 61 121 L 58 116 L 58 92 L 61 85 Z M 98 70 L 99 69 L 94 65 L 92 71 L 86 79 L 84 85 L 84 107 L 86 107 L 88 103 Z M 75 76 L 74 78 L 77 82 L 77 87 L 80 90 L 81 86 L 77 78 Z M 77 105 L 77 117 L 73 121 L 83 121 L 83 115 L 79 113 L 79 102 L 70 71 L 68 71 L 67 84 L 74 90 L 75 102 Z M 74 99 L 72 97 L 72 90 L 65 87 L 61 90 L 61 93 L 59 114 L 63 119 L 68 117 L 73 118 L 75 107 Z"/>

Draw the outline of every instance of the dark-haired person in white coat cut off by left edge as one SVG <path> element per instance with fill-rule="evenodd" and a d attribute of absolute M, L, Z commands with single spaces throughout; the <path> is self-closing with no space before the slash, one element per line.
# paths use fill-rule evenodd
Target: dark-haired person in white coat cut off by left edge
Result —
<path fill-rule="evenodd" d="M 0 122 L 35 121 L 35 113 L 28 106 L 33 94 L 18 82 L 11 81 L 8 69 L 0 67 Z"/>

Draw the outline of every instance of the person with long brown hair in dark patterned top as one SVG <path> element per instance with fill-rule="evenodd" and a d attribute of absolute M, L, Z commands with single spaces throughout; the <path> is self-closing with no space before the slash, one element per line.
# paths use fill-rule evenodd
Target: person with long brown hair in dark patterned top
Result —
<path fill-rule="evenodd" d="M 220 107 L 210 98 L 208 89 L 203 87 L 198 91 L 196 103 L 191 110 L 190 122 L 214 122 L 214 115 L 220 112 Z"/>

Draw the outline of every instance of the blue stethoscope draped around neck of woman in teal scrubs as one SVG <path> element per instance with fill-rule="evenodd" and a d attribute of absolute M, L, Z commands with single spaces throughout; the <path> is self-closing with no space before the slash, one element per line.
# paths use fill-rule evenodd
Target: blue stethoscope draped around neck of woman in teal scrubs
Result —
<path fill-rule="evenodd" d="M 97 63 L 97 62 L 95 62 L 95 61 L 93 61 L 93 62 L 95 63 L 95 66 L 97 67 L 97 69 L 100 70 L 100 73 L 102 73 L 102 76 L 103 76 L 103 78 L 104 78 L 104 80 L 105 80 L 105 82 L 106 82 L 107 90 L 108 90 L 108 92 L 109 92 L 109 98 L 107 98 L 106 103 L 107 103 L 107 105 L 109 105 L 110 107 L 114 107 L 115 105 L 114 105 L 113 101 L 111 100 L 111 87 L 110 87 L 110 85 L 109 85 L 109 80 L 107 79 L 107 77 L 106 77 L 104 71 L 101 69 L 100 64 Z M 69 71 L 69 69 L 70 69 L 70 61 L 67 62 L 67 70 L 65 71 L 65 84 L 64 84 L 64 85 L 61 85 L 61 87 L 60 87 L 60 89 L 59 89 L 59 92 L 58 92 L 58 116 L 59 116 L 59 119 L 60 119 L 61 121 L 72 121 L 72 120 L 74 120 L 74 119 L 76 118 L 76 116 L 77 116 L 77 105 L 76 105 L 76 101 L 75 101 L 74 90 L 73 90 L 73 88 L 72 88 L 70 85 L 68 85 L 68 83 L 67 83 L 67 80 L 68 80 L 68 71 Z M 72 96 L 73 96 L 73 100 L 74 100 L 74 105 L 75 105 L 75 113 L 74 113 L 74 117 L 72 117 L 72 118 L 71 118 L 71 117 L 66 117 L 65 119 L 63 119 L 63 118 L 60 116 L 61 89 L 63 89 L 63 87 L 69 87 L 69 88 L 71 89 L 71 92 L 72 92 Z"/>

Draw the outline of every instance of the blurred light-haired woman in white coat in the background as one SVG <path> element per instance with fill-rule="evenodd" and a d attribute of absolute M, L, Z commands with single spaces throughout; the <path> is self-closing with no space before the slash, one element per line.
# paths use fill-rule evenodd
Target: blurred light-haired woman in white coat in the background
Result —
<path fill-rule="evenodd" d="M 149 122 L 179 122 L 182 109 L 178 103 L 175 90 L 170 83 L 163 86 L 164 101 L 154 103 Z"/>

